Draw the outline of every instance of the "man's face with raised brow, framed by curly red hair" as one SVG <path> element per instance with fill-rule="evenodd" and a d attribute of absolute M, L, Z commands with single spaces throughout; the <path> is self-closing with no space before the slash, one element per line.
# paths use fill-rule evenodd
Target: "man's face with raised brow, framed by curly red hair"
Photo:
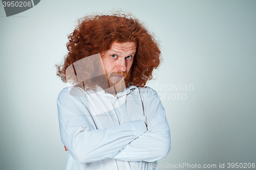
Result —
<path fill-rule="evenodd" d="M 122 78 L 125 79 L 127 77 L 132 67 L 135 53 L 135 42 L 113 42 L 110 50 L 103 53 L 101 59 L 110 82 L 116 84 Z"/>

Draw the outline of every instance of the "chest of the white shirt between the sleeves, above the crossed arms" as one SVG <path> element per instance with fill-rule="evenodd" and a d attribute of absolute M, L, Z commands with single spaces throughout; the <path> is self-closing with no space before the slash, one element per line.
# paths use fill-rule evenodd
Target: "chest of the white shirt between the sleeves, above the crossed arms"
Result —
<path fill-rule="evenodd" d="M 89 112 L 97 129 L 121 125 L 133 120 L 146 123 L 143 103 L 139 93 L 119 97 L 92 94 L 87 96 Z"/>

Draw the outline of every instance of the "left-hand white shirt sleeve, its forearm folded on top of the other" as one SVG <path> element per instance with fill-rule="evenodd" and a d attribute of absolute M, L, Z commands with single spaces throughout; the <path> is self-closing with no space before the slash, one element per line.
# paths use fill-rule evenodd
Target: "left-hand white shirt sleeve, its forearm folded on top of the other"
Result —
<path fill-rule="evenodd" d="M 81 97 L 64 88 L 57 99 L 60 137 L 77 163 L 111 158 L 129 142 L 146 132 L 142 120 L 97 129 Z"/>

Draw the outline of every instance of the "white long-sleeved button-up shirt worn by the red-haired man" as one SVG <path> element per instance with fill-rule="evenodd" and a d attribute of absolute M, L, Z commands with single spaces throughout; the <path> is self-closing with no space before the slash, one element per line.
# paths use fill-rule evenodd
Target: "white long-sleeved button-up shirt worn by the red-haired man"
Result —
<path fill-rule="evenodd" d="M 130 86 L 116 96 L 66 87 L 57 107 L 67 170 L 158 169 L 170 150 L 165 109 L 150 87 Z"/>

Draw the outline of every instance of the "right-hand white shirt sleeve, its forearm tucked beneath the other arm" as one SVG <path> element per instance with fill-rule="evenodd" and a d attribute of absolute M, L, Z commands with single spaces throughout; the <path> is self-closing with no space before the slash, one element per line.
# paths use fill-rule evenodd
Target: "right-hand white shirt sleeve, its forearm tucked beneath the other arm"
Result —
<path fill-rule="evenodd" d="M 141 92 L 148 131 L 127 144 L 113 158 L 122 161 L 153 162 L 166 158 L 170 150 L 170 131 L 158 94 L 147 87 Z"/>

